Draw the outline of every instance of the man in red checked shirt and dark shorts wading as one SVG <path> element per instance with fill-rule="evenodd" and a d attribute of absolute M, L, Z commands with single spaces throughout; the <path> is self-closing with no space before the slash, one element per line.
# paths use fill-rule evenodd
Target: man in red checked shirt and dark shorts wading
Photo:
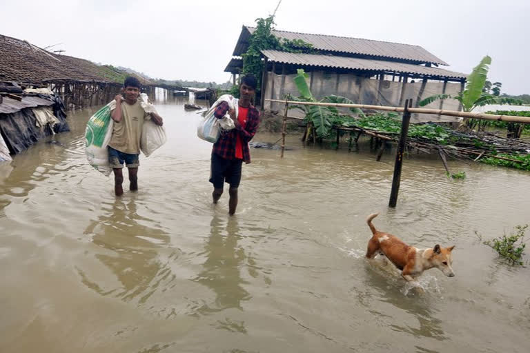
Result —
<path fill-rule="evenodd" d="M 239 107 L 238 116 L 235 111 L 228 108 L 227 102 L 222 102 L 215 108 L 214 115 L 217 119 L 224 117 L 226 112 L 234 121 L 235 128 L 222 131 L 219 140 L 212 148 L 212 159 L 210 165 L 210 183 L 213 183 L 213 203 L 217 203 L 223 194 L 224 182 L 230 185 L 228 193 L 228 213 L 233 215 L 237 208 L 237 188 L 241 181 L 241 170 L 243 161 L 251 163 L 251 152 L 248 141 L 254 137 L 259 125 L 259 112 L 253 105 L 251 99 L 256 91 L 257 81 L 252 75 L 242 78 L 239 85 Z"/>

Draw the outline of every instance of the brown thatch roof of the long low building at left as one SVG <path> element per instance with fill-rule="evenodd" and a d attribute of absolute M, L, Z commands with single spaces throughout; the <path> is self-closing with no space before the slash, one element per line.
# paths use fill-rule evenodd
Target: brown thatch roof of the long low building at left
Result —
<path fill-rule="evenodd" d="M 143 85 L 147 79 L 108 65 L 97 65 L 85 59 L 57 55 L 42 48 L 0 34 L 0 81 L 43 84 L 58 81 L 123 83 L 136 76 Z"/>

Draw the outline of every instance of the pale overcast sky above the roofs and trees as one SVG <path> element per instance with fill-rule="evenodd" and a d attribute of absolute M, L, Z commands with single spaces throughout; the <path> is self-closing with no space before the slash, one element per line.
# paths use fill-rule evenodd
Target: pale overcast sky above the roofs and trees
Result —
<path fill-rule="evenodd" d="M 271 14 L 278 0 L 8 1 L 0 34 L 161 79 L 216 81 L 242 25 Z M 530 94 L 528 0 L 282 0 L 276 28 L 422 46 L 469 73 L 489 54 L 502 92 Z"/>

